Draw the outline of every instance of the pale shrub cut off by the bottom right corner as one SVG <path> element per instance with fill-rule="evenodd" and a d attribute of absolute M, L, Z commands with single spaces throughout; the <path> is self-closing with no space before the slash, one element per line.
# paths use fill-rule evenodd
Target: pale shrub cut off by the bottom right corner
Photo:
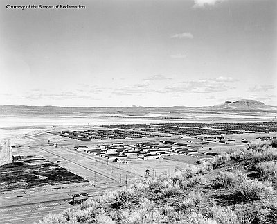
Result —
<path fill-rule="evenodd" d="M 277 199 L 263 202 L 257 218 L 259 223 L 277 224 Z"/>

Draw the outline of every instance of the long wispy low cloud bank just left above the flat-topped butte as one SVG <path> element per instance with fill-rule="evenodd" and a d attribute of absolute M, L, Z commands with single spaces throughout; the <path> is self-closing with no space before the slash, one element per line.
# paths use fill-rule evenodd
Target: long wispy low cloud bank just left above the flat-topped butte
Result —
<path fill-rule="evenodd" d="M 211 92 L 226 92 L 235 87 L 228 85 L 230 82 L 235 82 L 233 78 L 218 77 L 207 78 L 195 81 L 186 81 L 175 85 L 168 85 L 162 89 L 156 90 L 159 93 L 211 93 Z"/>

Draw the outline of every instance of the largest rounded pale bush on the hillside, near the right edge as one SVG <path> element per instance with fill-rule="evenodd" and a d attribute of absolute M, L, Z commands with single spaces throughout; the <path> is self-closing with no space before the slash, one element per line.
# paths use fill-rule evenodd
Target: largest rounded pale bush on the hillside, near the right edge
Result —
<path fill-rule="evenodd" d="M 272 196 L 275 193 L 271 187 L 271 182 L 260 182 L 249 179 L 245 179 L 238 184 L 238 192 L 244 200 L 260 200 Z"/>

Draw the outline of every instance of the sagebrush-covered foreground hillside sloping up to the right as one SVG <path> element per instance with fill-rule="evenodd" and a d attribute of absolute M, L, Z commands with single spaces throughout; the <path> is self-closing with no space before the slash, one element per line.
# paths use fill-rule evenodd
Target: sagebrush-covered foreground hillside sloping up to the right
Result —
<path fill-rule="evenodd" d="M 39 224 L 277 223 L 276 146 L 274 139 L 229 150 L 198 169 L 145 178 Z"/>

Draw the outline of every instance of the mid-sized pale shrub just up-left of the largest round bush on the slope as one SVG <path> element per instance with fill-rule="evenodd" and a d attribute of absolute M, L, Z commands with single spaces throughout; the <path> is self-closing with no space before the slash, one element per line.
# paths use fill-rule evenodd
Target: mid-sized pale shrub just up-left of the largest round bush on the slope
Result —
<path fill-rule="evenodd" d="M 218 187 L 235 188 L 240 182 L 242 182 L 243 179 L 246 178 L 246 175 L 242 174 L 240 171 L 237 173 L 220 172 L 215 179 L 215 185 Z"/>

